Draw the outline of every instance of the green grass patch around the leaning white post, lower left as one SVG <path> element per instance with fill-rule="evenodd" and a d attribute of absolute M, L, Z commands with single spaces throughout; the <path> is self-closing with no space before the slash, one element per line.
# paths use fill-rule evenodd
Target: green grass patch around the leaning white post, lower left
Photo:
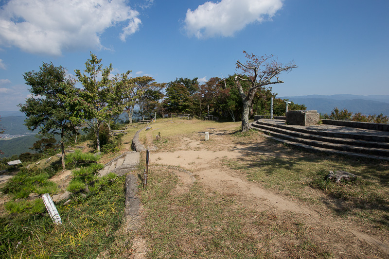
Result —
<path fill-rule="evenodd" d="M 7 206 L 18 212 L 27 211 L 20 204 Z M 130 241 L 131 237 L 117 232 L 124 213 L 124 176 L 93 195 L 74 196 L 70 204 L 59 204 L 57 209 L 61 225 L 53 224 L 45 209 L 39 214 L 1 217 L 0 257 L 96 258 L 104 254 L 105 258 L 120 258 L 121 253 L 129 250 L 131 242 L 124 240 Z M 118 247 L 118 243 L 122 246 Z"/>

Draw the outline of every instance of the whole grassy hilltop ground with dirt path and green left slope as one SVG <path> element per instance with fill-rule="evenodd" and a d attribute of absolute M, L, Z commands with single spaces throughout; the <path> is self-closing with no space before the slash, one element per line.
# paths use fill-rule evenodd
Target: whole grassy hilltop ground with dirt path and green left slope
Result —
<path fill-rule="evenodd" d="M 144 125 L 130 124 L 125 151 Z M 73 189 L 56 204 L 62 225 L 44 207 L 2 185 L 0 253 L 8 258 L 385 258 L 389 237 L 389 165 L 338 155 L 308 154 L 250 130 L 240 122 L 159 119 L 140 133 L 151 151 L 149 182 L 141 188 L 139 218 L 124 220 L 124 176 L 89 191 Z M 204 141 L 204 134 L 210 140 Z M 156 135 L 160 139 L 156 139 Z M 87 146 L 87 142 L 80 143 Z M 84 153 L 91 150 L 85 148 Z M 141 164 L 133 173 L 142 175 Z M 74 160 L 72 160 L 74 161 Z M 60 181 L 59 158 L 42 159 L 20 177 L 51 194 L 68 188 L 81 164 Z M 23 168 L 26 165 L 23 165 Z M 324 180 L 329 170 L 358 175 L 352 183 Z M 23 176 L 24 175 L 24 176 Z M 46 177 L 44 178 L 43 175 Z M 80 175 L 80 174 L 78 174 Z M 27 178 L 26 178 L 27 179 Z M 40 179 L 40 178 L 39 178 Z M 87 179 L 86 177 L 83 178 Z M 55 185 L 48 184 L 53 181 Z M 39 189 L 35 189 L 37 191 Z M 69 189 L 68 189 L 69 190 Z M 16 195 L 19 195 L 17 197 Z M 27 198 L 23 198 L 26 197 Z M 11 202 L 11 203 L 10 203 Z M 20 208 L 17 203 L 28 203 Z M 39 202 L 36 202 L 39 203 Z M 19 208 L 19 209 L 18 209 Z M 14 209 L 11 211 L 10 209 Z M 355 239 L 355 236 L 358 239 Z M 359 240 L 359 241 L 357 241 Z"/>

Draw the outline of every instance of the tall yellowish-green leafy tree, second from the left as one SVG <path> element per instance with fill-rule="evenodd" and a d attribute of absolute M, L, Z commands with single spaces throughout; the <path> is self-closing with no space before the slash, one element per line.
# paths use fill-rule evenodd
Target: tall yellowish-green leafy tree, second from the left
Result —
<path fill-rule="evenodd" d="M 79 69 L 74 70 L 78 81 L 84 86 L 78 92 L 78 98 L 73 99 L 77 107 L 77 116 L 72 119 L 85 123 L 94 131 L 97 140 L 97 150 L 100 151 L 100 127 L 103 122 L 123 111 L 121 102 L 121 88 L 116 81 L 109 79 L 112 64 L 103 69 L 101 59 L 90 52 L 90 59 L 85 63 L 86 69 L 82 74 Z M 100 80 L 98 80 L 101 77 Z"/>

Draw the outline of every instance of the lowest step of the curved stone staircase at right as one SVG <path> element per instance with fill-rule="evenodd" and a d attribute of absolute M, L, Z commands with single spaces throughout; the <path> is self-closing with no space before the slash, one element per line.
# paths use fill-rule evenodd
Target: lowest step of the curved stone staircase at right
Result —
<path fill-rule="evenodd" d="M 329 152 L 329 153 L 338 153 L 338 154 L 347 154 L 347 155 L 354 155 L 360 154 L 359 156 L 365 155 L 366 157 L 371 158 L 377 158 L 377 159 L 389 159 L 389 150 L 383 149 L 383 148 L 372 148 L 372 147 L 361 147 L 361 146 L 353 146 L 349 144 L 338 144 L 333 142 L 325 142 L 325 141 L 318 141 L 318 140 L 312 140 L 312 139 L 305 139 L 305 138 L 299 138 L 290 136 L 284 133 L 279 133 L 273 130 L 261 128 L 260 124 L 252 123 L 251 127 L 255 129 L 259 129 L 265 133 L 266 137 L 273 137 L 277 140 L 283 139 L 285 143 L 300 146 L 300 147 L 310 147 L 310 149 L 315 149 L 321 152 Z M 274 129 L 274 128 L 273 128 Z M 304 137 L 306 135 L 301 135 L 301 137 Z M 353 140 L 355 141 L 355 140 Z M 344 153 L 346 152 L 346 153 Z"/>

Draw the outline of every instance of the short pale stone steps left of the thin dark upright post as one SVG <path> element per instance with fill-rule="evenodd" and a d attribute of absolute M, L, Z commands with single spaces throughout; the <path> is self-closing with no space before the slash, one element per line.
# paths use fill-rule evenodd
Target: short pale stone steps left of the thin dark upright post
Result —
<path fill-rule="evenodd" d="M 139 164 L 140 153 L 136 151 L 126 152 L 117 156 L 105 164 L 104 168 L 99 171 L 99 176 L 105 176 L 112 172 L 117 175 L 123 175 L 129 171 L 135 170 Z"/>

